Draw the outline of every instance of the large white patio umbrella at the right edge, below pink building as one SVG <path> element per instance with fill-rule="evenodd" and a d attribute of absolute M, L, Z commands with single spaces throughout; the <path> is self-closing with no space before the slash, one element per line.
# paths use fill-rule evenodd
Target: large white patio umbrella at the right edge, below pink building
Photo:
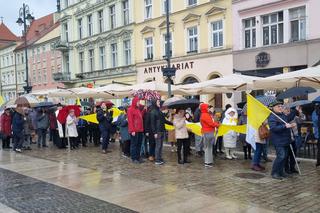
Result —
<path fill-rule="evenodd" d="M 274 75 L 253 82 L 254 89 L 286 89 L 297 86 L 320 89 L 320 66 Z"/>

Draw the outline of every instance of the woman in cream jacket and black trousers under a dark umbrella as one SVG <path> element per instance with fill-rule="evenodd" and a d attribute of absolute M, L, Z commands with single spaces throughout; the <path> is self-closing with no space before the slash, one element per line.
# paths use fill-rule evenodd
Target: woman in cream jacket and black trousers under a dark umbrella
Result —
<path fill-rule="evenodd" d="M 186 117 L 185 111 L 180 109 L 173 118 L 173 125 L 175 128 L 176 139 L 177 139 L 177 146 L 178 146 L 178 163 L 191 163 L 187 160 L 188 157 L 188 144 L 189 144 L 189 134 L 186 127 Z M 181 149 L 183 147 L 183 160 L 181 158 Z"/>

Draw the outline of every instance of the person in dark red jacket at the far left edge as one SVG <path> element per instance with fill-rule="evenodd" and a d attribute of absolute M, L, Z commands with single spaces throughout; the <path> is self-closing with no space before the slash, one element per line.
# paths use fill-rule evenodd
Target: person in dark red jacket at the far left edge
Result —
<path fill-rule="evenodd" d="M 2 148 L 10 149 L 10 138 L 12 136 L 11 129 L 12 118 L 10 115 L 10 109 L 5 109 L 1 115 L 1 134 L 2 134 Z"/>

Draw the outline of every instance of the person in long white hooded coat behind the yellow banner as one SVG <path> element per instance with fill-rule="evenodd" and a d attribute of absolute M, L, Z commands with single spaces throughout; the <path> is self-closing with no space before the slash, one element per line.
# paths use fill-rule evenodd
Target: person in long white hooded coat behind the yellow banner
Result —
<path fill-rule="evenodd" d="M 222 121 L 224 125 L 236 126 L 238 122 L 238 113 L 235 109 L 229 108 L 225 112 L 225 117 Z M 226 158 L 237 159 L 235 155 L 235 149 L 237 146 L 237 133 L 235 131 L 229 131 L 223 136 L 224 148 L 226 153 Z"/>

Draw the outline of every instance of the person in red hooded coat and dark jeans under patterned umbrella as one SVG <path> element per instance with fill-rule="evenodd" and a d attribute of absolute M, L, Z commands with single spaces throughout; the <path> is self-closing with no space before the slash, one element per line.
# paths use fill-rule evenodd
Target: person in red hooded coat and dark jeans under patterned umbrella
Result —
<path fill-rule="evenodd" d="M 128 109 L 128 130 L 131 136 L 130 154 L 133 163 L 142 163 L 140 158 L 143 139 L 143 112 L 139 109 L 139 98 L 134 97 Z"/>

